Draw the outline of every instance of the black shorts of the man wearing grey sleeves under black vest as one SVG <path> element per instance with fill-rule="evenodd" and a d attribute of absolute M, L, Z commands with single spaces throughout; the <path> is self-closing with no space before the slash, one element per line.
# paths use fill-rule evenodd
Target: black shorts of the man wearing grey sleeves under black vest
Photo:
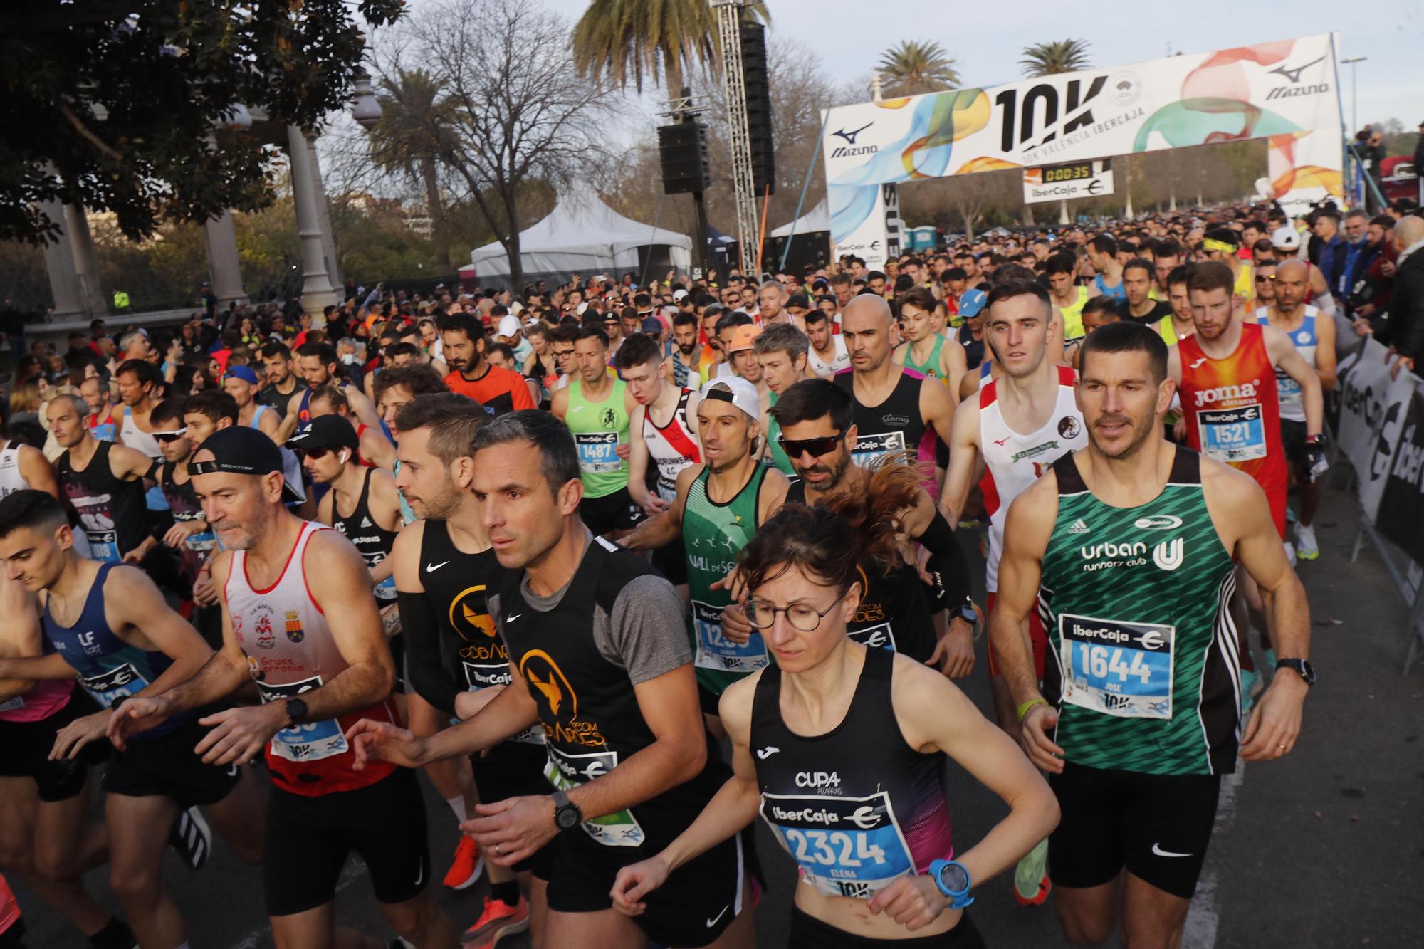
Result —
<path fill-rule="evenodd" d="M 560 834 L 553 846 L 548 908 L 565 913 L 609 909 L 608 891 L 618 869 L 662 849 L 658 842 L 601 846 L 580 828 Z M 715 942 L 738 913 L 750 911 L 742 899 L 743 871 L 738 834 L 672 871 L 668 882 L 644 896 L 648 909 L 634 916 L 634 922 L 648 939 L 664 946 L 693 949 Z"/>

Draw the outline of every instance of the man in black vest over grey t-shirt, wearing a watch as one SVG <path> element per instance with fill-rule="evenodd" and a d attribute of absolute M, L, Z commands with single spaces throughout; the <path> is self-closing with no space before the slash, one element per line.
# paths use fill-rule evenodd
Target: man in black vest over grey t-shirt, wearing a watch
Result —
<path fill-rule="evenodd" d="M 702 724 L 682 600 L 584 527 L 578 455 L 557 419 L 501 416 L 476 435 L 473 456 L 483 523 L 510 570 L 490 613 L 508 644 L 511 687 L 427 740 L 362 722 L 357 754 L 419 765 L 538 724 L 555 792 L 480 805 L 467 826 L 501 864 L 553 844 L 545 945 L 750 945 L 735 839 L 674 873 L 637 921 L 609 896 L 618 869 L 661 851 L 728 775 Z"/>

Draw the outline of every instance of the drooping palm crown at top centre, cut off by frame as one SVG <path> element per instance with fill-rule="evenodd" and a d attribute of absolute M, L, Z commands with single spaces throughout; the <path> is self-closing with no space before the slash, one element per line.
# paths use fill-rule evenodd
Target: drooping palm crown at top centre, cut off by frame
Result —
<path fill-rule="evenodd" d="M 752 4 L 743 16 L 768 20 Z M 607 77 L 641 93 L 644 76 L 659 73 L 669 95 L 682 94 L 684 66 L 692 60 L 716 71 L 716 14 L 706 0 L 592 0 L 574 24 L 574 66 L 591 80 Z"/>

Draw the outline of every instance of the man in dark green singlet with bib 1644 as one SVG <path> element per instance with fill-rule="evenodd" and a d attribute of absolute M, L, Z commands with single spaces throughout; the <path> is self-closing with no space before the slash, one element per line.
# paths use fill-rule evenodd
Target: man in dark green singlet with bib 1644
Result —
<path fill-rule="evenodd" d="M 1233 276 L 1219 271 L 1213 313 L 1230 321 Z M 1246 761 L 1289 754 L 1314 681 L 1306 593 L 1270 506 L 1249 477 L 1163 439 L 1173 389 L 1156 333 L 1119 322 L 1088 336 L 1088 446 L 1018 496 L 1004 534 L 991 636 L 1024 751 L 1062 809 L 1048 862 L 1079 946 L 1105 942 L 1119 915 L 1125 945 L 1180 939 L 1237 735 Z M 1243 732 L 1233 559 L 1270 593 L 1290 657 Z M 1042 690 L 1024 633 L 1032 611 L 1055 657 Z"/>

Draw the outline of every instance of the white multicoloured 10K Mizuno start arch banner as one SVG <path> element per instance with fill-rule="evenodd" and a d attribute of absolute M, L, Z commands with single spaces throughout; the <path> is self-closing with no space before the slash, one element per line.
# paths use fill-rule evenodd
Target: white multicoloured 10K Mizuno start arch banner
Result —
<path fill-rule="evenodd" d="M 1343 195 L 1333 33 L 823 114 L 836 254 L 884 264 L 880 185 L 1269 138 L 1287 214 Z M 871 249 L 879 244 L 880 252 Z"/>

